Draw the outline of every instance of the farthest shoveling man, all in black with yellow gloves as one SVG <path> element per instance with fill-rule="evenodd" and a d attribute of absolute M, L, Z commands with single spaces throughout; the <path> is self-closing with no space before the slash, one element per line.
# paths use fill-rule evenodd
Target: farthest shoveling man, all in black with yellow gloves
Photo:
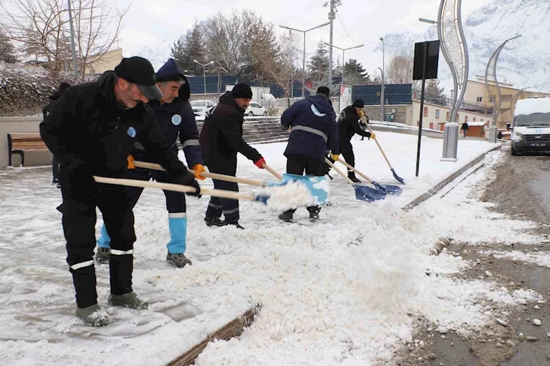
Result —
<path fill-rule="evenodd" d="M 362 99 L 355 100 L 351 106 L 344 108 L 340 117 L 338 117 L 338 141 L 340 151 L 344 160 L 349 165 L 355 167 L 355 155 L 353 154 L 353 146 L 351 145 L 351 137 L 356 133 L 358 135 L 367 137 L 375 137 L 374 134 L 371 135 L 369 131 L 364 131 L 359 126 L 360 112 L 364 108 L 365 104 Z M 338 155 L 338 153 L 336 153 Z M 355 176 L 355 172 L 348 168 L 348 177 L 355 183 L 359 183 L 360 180 Z"/>

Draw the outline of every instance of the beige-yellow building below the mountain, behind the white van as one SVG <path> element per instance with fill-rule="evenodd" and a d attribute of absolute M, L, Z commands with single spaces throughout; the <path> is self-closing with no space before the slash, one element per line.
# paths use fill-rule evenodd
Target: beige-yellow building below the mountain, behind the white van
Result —
<path fill-rule="evenodd" d="M 496 121 L 496 127 L 498 130 L 506 130 L 506 124 L 512 122 L 512 113 L 513 106 L 511 106 L 511 101 L 514 98 L 514 95 L 520 91 L 520 88 L 514 87 L 513 84 L 508 82 L 498 82 L 500 85 L 500 113 L 498 115 L 498 121 Z M 496 84 L 494 81 L 489 81 L 489 89 L 491 89 L 491 95 L 487 92 L 485 87 L 485 78 L 483 76 L 476 76 L 475 80 L 468 80 L 466 91 L 464 94 L 464 103 L 468 104 L 470 107 L 466 108 L 477 109 L 479 111 L 489 109 L 489 113 L 493 114 L 492 107 L 493 102 L 492 98 L 495 98 L 496 95 Z M 542 91 L 530 91 L 523 90 L 518 95 L 518 99 L 525 98 L 550 98 L 550 93 L 545 93 Z"/>

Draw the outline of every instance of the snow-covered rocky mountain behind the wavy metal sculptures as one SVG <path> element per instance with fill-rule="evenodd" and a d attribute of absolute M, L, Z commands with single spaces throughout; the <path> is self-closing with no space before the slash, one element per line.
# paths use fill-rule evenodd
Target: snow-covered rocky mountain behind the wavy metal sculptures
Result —
<path fill-rule="evenodd" d="M 467 18 L 464 15 L 470 79 L 476 75 L 485 76 L 487 62 L 494 50 L 507 38 L 521 34 L 521 38 L 510 41 L 500 52 L 496 67 L 498 80 L 518 87 L 550 91 L 549 0 L 494 0 Z M 406 49 L 412 54 L 414 43 L 434 39 L 437 39 L 437 28 L 432 26 L 424 34 L 386 34 L 384 41 L 386 52 Z M 439 78 L 450 79 L 443 56 L 439 65 Z M 448 82 L 442 84 L 449 85 Z M 450 88 L 445 88 L 445 93 L 450 93 Z"/>

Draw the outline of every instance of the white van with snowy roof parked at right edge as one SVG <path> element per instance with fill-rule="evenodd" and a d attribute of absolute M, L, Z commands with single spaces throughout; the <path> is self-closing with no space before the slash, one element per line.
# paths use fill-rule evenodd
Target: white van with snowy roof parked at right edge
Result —
<path fill-rule="evenodd" d="M 550 98 L 516 102 L 511 130 L 511 155 L 520 152 L 550 152 Z"/>

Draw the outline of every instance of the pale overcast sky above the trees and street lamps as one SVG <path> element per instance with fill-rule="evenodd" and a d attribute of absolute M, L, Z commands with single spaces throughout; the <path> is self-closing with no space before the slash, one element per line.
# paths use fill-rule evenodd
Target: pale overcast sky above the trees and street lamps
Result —
<path fill-rule="evenodd" d="M 186 33 L 192 24 L 213 16 L 217 12 L 229 13 L 232 9 L 253 10 L 265 21 L 274 25 L 287 25 L 296 29 L 309 29 L 328 21 L 329 8 L 323 8 L 325 0 L 117 0 L 119 8 L 129 8 L 119 46 L 124 56 L 132 56 L 143 47 L 166 52 L 170 45 Z M 419 17 L 437 19 L 439 0 L 342 0 L 334 21 L 333 45 L 341 48 L 364 45 L 346 52 L 346 59 L 355 58 L 373 73 L 382 66 L 382 52 L 375 52 L 380 37 L 385 34 L 412 32 L 421 34 L 430 25 L 418 21 Z M 490 0 L 465 0 L 462 3 L 464 20 L 477 8 Z M 153 5 L 152 5 L 153 4 Z M 288 32 L 277 27 L 277 32 Z M 303 39 L 300 34 L 300 40 Z M 313 54 L 318 41 L 329 41 L 329 26 L 307 33 L 306 58 Z M 302 42 L 300 41 L 300 48 Z M 392 53 L 400 50 L 386 47 L 386 65 Z M 302 50 L 300 49 L 300 54 Z M 412 52 L 412 50 L 411 50 Z M 342 60 L 342 52 L 334 49 L 334 62 Z M 208 61 L 208 60 L 206 60 Z M 298 61 L 301 65 L 301 58 Z"/>

